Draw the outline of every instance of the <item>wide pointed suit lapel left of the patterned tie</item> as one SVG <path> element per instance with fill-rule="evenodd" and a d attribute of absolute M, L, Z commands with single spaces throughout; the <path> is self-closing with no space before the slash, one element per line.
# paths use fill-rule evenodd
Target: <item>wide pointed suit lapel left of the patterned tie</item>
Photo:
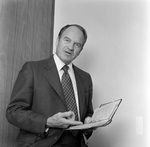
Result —
<path fill-rule="evenodd" d="M 57 92 L 59 97 L 65 103 L 62 86 L 60 83 L 58 71 L 56 69 L 56 65 L 55 65 L 53 56 L 48 59 L 47 65 L 45 66 L 44 75 L 47 78 L 47 80 L 49 81 L 49 83 L 51 84 L 51 86 L 54 88 L 54 90 Z"/>

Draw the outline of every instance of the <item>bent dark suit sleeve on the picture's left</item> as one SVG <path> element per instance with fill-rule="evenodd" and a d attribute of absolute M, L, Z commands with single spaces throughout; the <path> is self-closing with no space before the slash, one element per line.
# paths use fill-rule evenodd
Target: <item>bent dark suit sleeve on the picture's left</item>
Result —
<path fill-rule="evenodd" d="M 26 63 L 14 84 L 10 103 L 6 110 L 7 120 L 16 127 L 32 133 L 44 133 L 46 116 L 32 111 L 34 77 L 30 63 Z"/>

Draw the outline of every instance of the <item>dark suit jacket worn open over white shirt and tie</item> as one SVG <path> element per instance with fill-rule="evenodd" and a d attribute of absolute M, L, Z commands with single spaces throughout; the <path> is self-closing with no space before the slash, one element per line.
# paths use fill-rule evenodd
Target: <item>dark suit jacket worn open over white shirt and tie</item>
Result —
<path fill-rule="evenodd" d="M 92 80 L 88 73 L 74 65 L 73 68 L 80 117 L 84 121 L 85 117 L 93 114 Z M 8 121 L 20 128 L 17 141 L 22 146 L 52 146 L 63 133 L 63 129 L 50 128 L 45 136 L 47 118 L 65 111 L 67 108 L 53 56 L 42 61 L 25 63 L 15 82 L 6 111 Z M 82 134 L 81 138 L 83 140 Z"/>

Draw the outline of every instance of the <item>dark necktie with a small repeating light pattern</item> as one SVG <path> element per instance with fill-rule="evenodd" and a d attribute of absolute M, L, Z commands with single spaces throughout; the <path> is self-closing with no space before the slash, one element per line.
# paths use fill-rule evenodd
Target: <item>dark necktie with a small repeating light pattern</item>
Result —
<path fill-rule="evenodd" d="M 64 73 L 62 75 L 62 88 L 63 88 L 63 92 L 64 92 L 64 96 L 65 96 L 65 102 L 66 102 L 68 110 L 71 110 L 74 112 L 75 120 L 79 120 L 74 90 L 73 90 L 70 76 L 68 74 L 69 67 L 67 65 L 65 65 L 65 66 L 63 66 L 62 69 L 64 70 Z M 76 136 L 78 133 L 78 131 L 71 131 L 71 132 L 74 136 Z"/>

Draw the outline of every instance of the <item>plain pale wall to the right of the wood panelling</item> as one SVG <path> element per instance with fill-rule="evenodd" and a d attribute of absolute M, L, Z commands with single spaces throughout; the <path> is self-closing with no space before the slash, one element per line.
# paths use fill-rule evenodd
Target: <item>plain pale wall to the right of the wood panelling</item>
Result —
<path fill-rule="evenodd" d="M 90 147 L 149 147 L 149 6 L 144 0 L 56 0 L 54 38 L 70 23 L 88 32 L 74 63 L 92 76 L 94 108 L 123 99 L 112 123 L 94 131 Z"/>

